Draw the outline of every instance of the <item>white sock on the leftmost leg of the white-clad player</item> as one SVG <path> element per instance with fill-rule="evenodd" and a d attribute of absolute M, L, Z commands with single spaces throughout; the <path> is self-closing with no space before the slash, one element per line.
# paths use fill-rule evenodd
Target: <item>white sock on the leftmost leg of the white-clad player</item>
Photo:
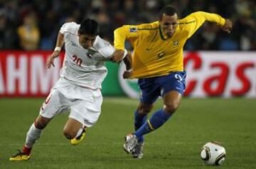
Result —
<path fill-rule="evenodd" d="M 34 143 L 36 143 L 36 140 L 40 138 L 41 133 L 42 133 L 42 130 L 36 128 L 35 124 L 33 123 L 26 135 L 26 142 L 25 142 L 26 148 L 32 148 Z"/>

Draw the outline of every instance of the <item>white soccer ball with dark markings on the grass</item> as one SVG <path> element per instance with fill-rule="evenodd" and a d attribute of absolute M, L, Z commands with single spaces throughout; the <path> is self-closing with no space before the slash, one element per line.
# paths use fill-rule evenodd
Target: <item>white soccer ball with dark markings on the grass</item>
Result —
<path fill-rule="evenodd" d="M 201 159 L 206 165 L 222 165 L 225 156 L 225 148 L 214 141 L 206 143 L 201 149 Z"/>

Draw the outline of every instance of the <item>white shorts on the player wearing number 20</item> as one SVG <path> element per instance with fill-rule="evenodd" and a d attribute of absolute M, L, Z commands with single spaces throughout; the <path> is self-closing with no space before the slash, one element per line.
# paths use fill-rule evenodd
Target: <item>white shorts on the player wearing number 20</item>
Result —
<path fill-rule="evenodd" d="M 70 110 L 69 118 L 86 127 L 93 126 L 100 116 L 102 93 L 100 89 L 92 90 L 75 86 L 60 78 L 51 89 L 49 96 L 41 107 L 40 115 L 53 118 L 63 111 Z"/>

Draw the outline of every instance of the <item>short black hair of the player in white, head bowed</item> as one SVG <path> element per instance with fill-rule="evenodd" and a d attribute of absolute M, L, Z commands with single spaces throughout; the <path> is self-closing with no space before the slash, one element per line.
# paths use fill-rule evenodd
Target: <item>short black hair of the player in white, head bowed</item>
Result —
<path fill-rule="evenodd" d="M 90 34 L 97 36 L 99 34 L 99 26 L 97 21 L 94 19 L 84 19 L 80 24 L 78 31 L 80 34 Z"/>

